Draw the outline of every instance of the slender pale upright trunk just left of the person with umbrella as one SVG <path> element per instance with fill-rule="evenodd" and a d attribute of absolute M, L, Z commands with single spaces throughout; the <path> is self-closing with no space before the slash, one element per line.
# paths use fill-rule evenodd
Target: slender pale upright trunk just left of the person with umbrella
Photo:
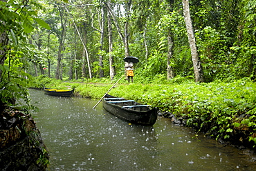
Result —
<path fill-rule="evenodd" d="M 109 30 L 109 76 L 110 76 L 110 79 L 113 80 L 113 77 L 115 76 L 116 72 L 115 72 L 115 66 L 113 65 L 114 61 L 112 56 L 112 51 L 113 51 L 112 22 L 111 22 L 111 14 L 109 11 L 107 12 L 107 28 Z"/>

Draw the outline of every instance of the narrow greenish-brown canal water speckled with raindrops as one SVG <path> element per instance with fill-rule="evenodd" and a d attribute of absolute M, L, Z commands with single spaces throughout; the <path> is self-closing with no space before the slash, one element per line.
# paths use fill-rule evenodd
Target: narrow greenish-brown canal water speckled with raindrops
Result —
<path fill-rule="evenodd" d="M 33 113 L 51 157 L 48 170 L 255 170 L 248 155 L 158 117 L 129 125 L 97 101 L 30 90 Z"/>

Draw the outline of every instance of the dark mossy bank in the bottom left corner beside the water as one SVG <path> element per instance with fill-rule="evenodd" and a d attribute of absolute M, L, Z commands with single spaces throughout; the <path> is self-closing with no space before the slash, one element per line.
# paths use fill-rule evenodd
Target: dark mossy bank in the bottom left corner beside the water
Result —
<path fill-rule="evenodd" d="M 30 114 L 0 114 L 0 170 L 46 170 L 49 154 Z"/>

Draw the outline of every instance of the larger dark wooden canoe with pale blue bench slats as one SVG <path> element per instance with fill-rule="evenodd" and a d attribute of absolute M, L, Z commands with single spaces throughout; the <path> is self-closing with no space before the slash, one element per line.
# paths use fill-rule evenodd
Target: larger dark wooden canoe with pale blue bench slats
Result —
<path fill-rule="evenodd" d="M 137 103 L 134 100 L 113 97 L 106 94 L 103 101 L 103 108 L 114 116 L 141 125 L 154 125 L 157 119 L 156 108 L 149 105 Z"/>

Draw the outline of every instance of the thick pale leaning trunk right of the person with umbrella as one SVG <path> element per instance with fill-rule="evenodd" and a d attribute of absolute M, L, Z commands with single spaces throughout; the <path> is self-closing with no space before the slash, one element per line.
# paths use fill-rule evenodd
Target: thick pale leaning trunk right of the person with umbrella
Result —
<path fill-rule="evenodd" d="M 203 82 L 203 68 L 201 66 L 201 60 L 196 48 L 196 39 L 194 37 L 194 31 L 193 31 L 192 21 L 190 17 L 190 6 L 189 6 L 188 0 L 183 0 L 183 14 L 184 14 L 185 24 L 188 32 L 188 41 L 190 43 L 195 81 Z"/>

